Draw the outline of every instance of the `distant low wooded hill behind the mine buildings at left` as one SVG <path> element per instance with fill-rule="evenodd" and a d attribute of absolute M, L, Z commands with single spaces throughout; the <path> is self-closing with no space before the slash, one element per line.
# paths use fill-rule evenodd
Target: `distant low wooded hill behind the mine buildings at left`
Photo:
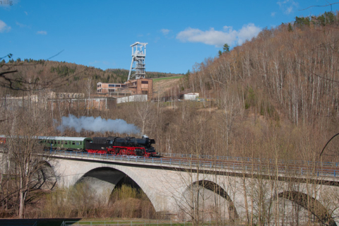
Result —
<path fill-rule="evenodd" d="M 92 66 L 83 66 L 59 61 L 45 61 L 34 59 L 20 58 L 10 59 L 7 63 L 3 59 L 1 62 L 3 69 L 7 67 L 11 70 L 18 70 L 18 73 L 13 73 L 16 78 L 32 78 L 40 81 L 58 81 L 59 85 L 51 87 L 57 92 L 86 93 L 88 78 L 92 80 L 92 90 L 95 91 L 96 84 L 101 83 L 124 83 L 127 81 L 129 71 L 126 69 L 96 69 Z M 160 78 L 167 76 L 177 76 L 174 73 L 149 72 L 146 71 L 147 78 Z"/>

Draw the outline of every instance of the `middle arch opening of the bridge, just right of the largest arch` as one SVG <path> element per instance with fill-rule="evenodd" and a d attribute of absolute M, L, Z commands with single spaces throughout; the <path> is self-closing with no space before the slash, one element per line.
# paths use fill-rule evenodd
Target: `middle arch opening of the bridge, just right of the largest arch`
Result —
<path fill-rule="evenodd" d="M 195 200 L 192 201 L 187 199 L 188 194 L 191 195 L 191 197 L 194 197 Z M 202 179 L 192 183 L 186 188 L 183 196 L 186 203 L 190 202 L 191 205 L 193 205 L 191 207 L 195 207 L 194 202 L 198 202 L 199 199 L 202 199 L 207 203 L 208 206 L 206 207 L 208 207 L 209 211 L 215 211 L 214 218 L 225 220 L 225 217 L 227 217 L 229 220 L 233 221 L 239 218 L 234 202 L 230 198 L 230 195 L 227 194 L 227 191 L 225 191 L 225 189 L 223 189 L 219 184 L 210 180 Z M 210 215 L 212 214 L 210 213 Z"/>

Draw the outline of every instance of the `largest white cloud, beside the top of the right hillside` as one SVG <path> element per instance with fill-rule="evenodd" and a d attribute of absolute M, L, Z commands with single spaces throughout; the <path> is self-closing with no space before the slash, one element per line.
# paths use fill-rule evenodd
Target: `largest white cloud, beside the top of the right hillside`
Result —
<path fill-rule="evenodd" d="M 246 40 L 258 35 L 261 28 L 256 27 L 253 23 L 244 25 L 239 31 L 233 30 L 232 27 L 224 26 L 223 30 L 199 30 L 196 28 L 186 28 L 177 34 L 177 39 L 182 42 L 202 42 L 204 44 L 222 47 L 223 44 L 242 44 Z"/>

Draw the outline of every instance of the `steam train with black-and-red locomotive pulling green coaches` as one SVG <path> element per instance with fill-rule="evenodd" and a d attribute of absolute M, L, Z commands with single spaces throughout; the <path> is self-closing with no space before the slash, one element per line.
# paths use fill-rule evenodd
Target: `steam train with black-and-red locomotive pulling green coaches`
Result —
<path fill-rule="evenodd" d="M 0 135 L 0 144 L 6 144 L 8 136 Z M 109 155 L 133 155 L 139 157 L 159 157 L 153 144 L 154 139 L 143 135 L 135 137 L 67 137 L 67 136 L 37 136 L 35 137 L 44 150 L 76 150 L 86 153 Z"/>

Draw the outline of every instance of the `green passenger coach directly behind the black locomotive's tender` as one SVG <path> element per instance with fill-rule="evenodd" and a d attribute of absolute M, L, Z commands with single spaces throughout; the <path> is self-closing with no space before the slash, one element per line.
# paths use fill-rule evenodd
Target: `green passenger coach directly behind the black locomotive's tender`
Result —
<path fill-rule="evenodd" d="M 38 139 L 44 147 L 58 150 L 85 150 L 85 143 L 92 142 L 88 137 L 39 136 Z"/>

